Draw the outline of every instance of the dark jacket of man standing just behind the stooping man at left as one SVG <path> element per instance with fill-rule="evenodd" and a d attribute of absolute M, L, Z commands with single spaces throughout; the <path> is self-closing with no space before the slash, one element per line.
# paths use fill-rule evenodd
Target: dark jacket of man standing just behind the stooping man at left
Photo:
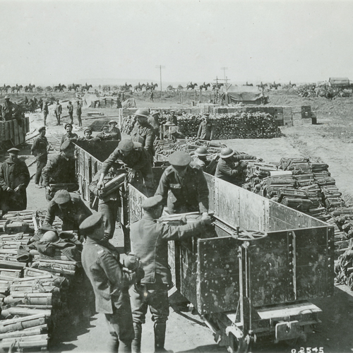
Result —
<path fill-rule="evenodd" d="M 75 160 L 67 160 L 64 153 L 51 157 L 42 170 L 43 185 L 77 183 Z"/>

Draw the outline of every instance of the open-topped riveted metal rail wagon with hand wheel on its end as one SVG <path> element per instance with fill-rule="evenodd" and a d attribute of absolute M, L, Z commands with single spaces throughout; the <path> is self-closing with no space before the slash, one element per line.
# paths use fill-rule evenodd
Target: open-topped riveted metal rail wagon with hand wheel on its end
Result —
<path fill-rule="evenodd" d="M 78 146 L 79 184 L 86 201 L 92 176 L 114 148 Z M 156 180 L 162 171 L 153 169 Z M 263 340 L 302 337 L 320 322 L 321 309 L 310 300 L 333 295 L 333 227 L 209 174 L 205 177 L 213 227 L 201 239 L 169 241 L 174 285 L 230 352 Z M 126 251 L 129 227 L 142 217 L 145 197 L 131 185 L 124 193 Z"/>

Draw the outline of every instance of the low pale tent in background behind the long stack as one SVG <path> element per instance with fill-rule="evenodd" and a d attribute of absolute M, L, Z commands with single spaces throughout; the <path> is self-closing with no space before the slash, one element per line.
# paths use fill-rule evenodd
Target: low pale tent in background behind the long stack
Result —
<path fill-rule="evenodd" d="M 240 102 L 244 104 L 263 104 L 266 99 L 262 90 L 252 86 L 231 85 L 228 90 L 223 86 L 220 90 L 220 95 L 225 105 L 238 104 Z"/>

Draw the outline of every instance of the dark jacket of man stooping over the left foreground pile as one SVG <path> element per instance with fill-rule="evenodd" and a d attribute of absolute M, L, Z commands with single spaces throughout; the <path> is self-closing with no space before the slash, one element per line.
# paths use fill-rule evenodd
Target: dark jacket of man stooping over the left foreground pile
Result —
<path fill-rule="evenodd" d="M 63 221 L 62 230 L 77 230 L 81 222 L 92 215 L 80 196 L 76 193 L 70 193 L 70 196 L 71 205 L 65 210 L 61 210 L 54 200 L 49 202 L 44 223 L 52 225 L 55 217 L 59 217 Z"/>

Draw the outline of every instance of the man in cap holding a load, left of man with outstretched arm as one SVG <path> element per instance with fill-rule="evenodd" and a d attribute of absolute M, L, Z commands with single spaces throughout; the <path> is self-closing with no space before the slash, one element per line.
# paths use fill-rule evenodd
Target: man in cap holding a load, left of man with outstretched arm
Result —
<path fill-rule="evenodd" d="M 119 252 L 104 240 L 102 213 L 95 213 L 83 221 L 80 232 L 87 237 L 82 251 L 83 269 L 95 292 L 95 309 L 104 313 L 115 341 L 112 352 L 118 352 L 118 349 L 119 352 L 131 352 L 133 321 L 128 288 L 138 277 L 135 272 L 123 270 Z"/>

